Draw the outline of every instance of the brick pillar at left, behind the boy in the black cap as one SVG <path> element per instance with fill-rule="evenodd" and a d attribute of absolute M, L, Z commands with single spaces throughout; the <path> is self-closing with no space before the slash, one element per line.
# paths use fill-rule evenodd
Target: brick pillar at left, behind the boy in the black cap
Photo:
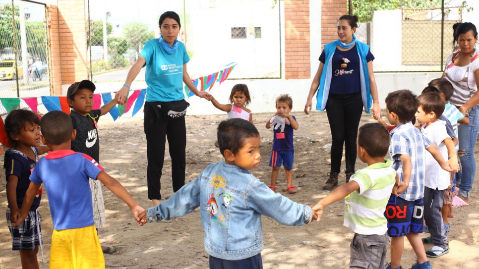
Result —
<path fill-rule="evenodd" d="M 47 9 L 52 95 L 62 95 L 62 88 L 89 78 L 85 1 L 58 0 L 57 4 L 57 16 L 55 6 Z"/>

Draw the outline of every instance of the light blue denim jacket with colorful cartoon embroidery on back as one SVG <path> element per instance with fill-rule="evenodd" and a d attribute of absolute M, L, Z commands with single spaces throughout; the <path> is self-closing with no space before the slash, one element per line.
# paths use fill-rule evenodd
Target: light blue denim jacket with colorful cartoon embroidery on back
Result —
<path fill-rule="evenodd" d="M 169 220 L 200 207 L 205 249 L 213 257 L 242 260 L 263 250 L 261 215 L 302 226 L 310 207 L 271 191 L 251 171 L 220 161 L 208 165 L 170 199 L 147 210 L 148 222 Z"/>

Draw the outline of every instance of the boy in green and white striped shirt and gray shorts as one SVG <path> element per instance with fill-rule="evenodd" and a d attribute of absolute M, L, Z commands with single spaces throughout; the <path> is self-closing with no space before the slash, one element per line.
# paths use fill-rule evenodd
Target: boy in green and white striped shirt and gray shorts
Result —
<path fill-rule="evenodd" d="M 358 157 L 368 166 L 313 207 L 319 221 L 326 206 L 345 199 L 344 226 L 355 233 L 349 264 L 352 268 L 383 269 L 385 265 L 388 228 L 384 211 L 397 182 L 391 161 L 385 159 L 389 141 L 389 132 L 380 123 L 362 125 L 358 134 Z"/>

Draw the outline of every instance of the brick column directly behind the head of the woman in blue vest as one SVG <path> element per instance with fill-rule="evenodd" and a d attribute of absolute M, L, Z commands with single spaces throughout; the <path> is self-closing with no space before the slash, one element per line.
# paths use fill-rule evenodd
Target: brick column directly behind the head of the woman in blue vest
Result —
<path fill-rule="evenodd" d="M 346 14 L 348 14 L 348 0 L 321 1 L 321 44 L 323 47 L 338 39 L 336 33 L 338 19 Z"/>

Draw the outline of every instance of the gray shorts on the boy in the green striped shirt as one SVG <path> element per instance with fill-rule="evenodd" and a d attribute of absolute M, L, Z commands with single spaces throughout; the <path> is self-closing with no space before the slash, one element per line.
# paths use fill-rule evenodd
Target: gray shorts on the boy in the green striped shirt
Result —
<path fill-rule="evenodd" d="M 355 233 L 351 242 L 349 268 L 384 269 L 387 251 L 387 233 L 383 235 Z"/>

